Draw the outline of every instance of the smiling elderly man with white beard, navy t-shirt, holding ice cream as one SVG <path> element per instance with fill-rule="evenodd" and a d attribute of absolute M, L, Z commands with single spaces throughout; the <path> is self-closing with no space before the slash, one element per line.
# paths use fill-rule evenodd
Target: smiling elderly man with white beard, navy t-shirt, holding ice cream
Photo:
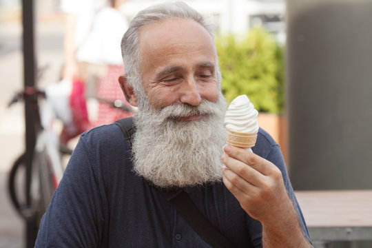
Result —
<path fill-rule="evenodd" d="M 36 246 L 211 247 L 159 190 L 183 188 L 234 247 L 311 247 L 269 134 L 260 130 L 253 153 L 224 147 L 226 106 L 203 17 L 184 3 L 147 8 L 121 46 L 119 83 L 139 110 L 132 142 L 114 124 L 81 136 Z"/>

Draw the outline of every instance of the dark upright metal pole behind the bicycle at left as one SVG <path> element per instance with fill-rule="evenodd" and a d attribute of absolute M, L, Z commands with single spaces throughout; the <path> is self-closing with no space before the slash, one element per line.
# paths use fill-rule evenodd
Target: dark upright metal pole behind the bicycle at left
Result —
<path fill-rule="evenodd" d="M 34 87 L 36 81 L 36 57 L 34 54 L 34 3 L 33 0 L 22 0 L 23 17 L 23 81 L 25 90 Z M 25 219 L 25 238 L 26 247 L 34 247 L 37 237 L 38 223 L 37 216 L 31 207 L 30 185 L 32 172 L 32 156 L 36 142 L 34 130 L 34 97 L 25 95 L 25 150 L 26 150 L 26 169 L 25 169 L 25 200 L 28 209 L 28 217 Z"/>

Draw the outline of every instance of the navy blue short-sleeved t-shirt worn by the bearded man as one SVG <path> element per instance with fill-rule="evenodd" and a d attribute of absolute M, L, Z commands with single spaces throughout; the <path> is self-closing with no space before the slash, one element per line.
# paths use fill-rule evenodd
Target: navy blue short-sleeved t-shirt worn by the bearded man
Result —
<path fill-rule="evenodd" d="M 255 154 L 279 167 L 297 208 L 280 147 L 260 129 Z M 157 189 L 132 171 L 131 150 L 114 124 L 85 132 L 43 219 L 36 247 L 210 247 Z M 236 247 L 262 247 L 262 227 L 223 183 L 186 187 Z"/>

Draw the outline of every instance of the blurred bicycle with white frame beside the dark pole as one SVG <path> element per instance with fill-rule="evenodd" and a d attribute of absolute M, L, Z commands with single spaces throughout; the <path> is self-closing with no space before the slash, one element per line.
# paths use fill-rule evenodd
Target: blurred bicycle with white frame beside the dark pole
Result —
<path fill-rule="evenodd" d="M 41 77 L 47 67 L 39 70 L 37 78 Z M 8 174 L 8 192 L 14 209 L 37 234 L 41 217 L 45 213 L 52 194 L 63 176 L 63 154 L 72 154 L 72 150 L 59 143 L 59 136 L 53 130 L 53 117 L 48 105 L 41 105 L 45 99 L 45 91 L 37 87 L 25 87 L 17 92 L 8 107 L 14 103 L 25 101 L 32 105 L 32 128 L 35 134 L 32 142 L 32 152 L 26 151 L 14 161 Z M 26 128 L 26 136 L 29 130 Z M 27 138 L 26 138 L 27 142 Z M 19 177 L 25 172 L 23 183 L 23 195 L 20 194 Z M 18 180 L 17 180 L 18 179 Z"/>

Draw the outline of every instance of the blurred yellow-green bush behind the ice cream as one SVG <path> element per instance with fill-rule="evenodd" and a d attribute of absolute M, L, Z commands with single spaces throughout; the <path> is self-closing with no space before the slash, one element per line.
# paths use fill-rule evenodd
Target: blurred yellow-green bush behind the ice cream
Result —
<path fill-rule="evenodd" d="M 260 112 L 284 109 L 283 48 L 261 28 L 245 37 L 216 37 L 222 89 L 228 102 L 246 94 Z"/>

